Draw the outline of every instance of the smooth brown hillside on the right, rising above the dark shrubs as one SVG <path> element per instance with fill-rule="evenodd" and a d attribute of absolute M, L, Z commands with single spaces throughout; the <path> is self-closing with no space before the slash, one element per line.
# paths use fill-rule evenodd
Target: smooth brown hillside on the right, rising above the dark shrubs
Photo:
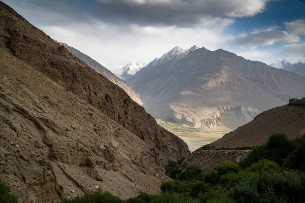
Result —
<path fill-rule="evenodd" d="M 267 142 L 273 133 L 286 133 L 290 139 L 304 134 L 305 107 L 285 105 L 265 111 L 253 121 L 225 134 L 210 146 L 216 148 L 257 146 Z"/>

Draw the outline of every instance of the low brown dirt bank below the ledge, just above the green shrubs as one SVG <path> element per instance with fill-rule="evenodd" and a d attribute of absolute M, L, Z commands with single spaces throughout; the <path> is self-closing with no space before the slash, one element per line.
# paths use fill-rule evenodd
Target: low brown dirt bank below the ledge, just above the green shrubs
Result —
<path fill-rule="evenodd" d="M 239 162 L 247 157 L 250 150 L 202 150 L 198 149 L 185 158 L 185 162 L 201 168 L 202 172 L 214 170 L 222 161 Z"/>

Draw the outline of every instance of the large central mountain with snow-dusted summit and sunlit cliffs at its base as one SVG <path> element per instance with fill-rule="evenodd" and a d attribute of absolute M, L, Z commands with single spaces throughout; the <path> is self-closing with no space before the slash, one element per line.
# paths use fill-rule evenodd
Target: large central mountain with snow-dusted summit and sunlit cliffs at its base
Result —
<path fill-rule="evenodd" d="M 222 49 L 174 48 L 163 56 L 126 81 L 155 118 L 230 131 L 305 95 L 304 77 Z"/>

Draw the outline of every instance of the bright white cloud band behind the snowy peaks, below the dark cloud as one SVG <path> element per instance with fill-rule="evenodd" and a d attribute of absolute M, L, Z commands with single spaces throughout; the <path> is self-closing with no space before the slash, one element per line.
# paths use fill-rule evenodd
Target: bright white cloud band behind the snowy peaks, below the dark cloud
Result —
<path fill-rule="evenodd" d="M 53 39 L 94 58 L 107 68 L 123 67 L 134 60 L 148 63 L 175 46 L 188 49 L 193 45 L 210 50 L 219 49 L 229 39 L 218 29 L 117 26 L 96 22 L 94 26 L 42 26 Z"/>

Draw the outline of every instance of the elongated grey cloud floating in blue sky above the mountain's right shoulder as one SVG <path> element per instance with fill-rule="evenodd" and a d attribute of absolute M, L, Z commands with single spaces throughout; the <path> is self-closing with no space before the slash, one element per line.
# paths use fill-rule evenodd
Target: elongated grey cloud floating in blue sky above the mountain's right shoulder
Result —
<path fill-rule="evenodd" d="M 277 42 L 295 43 L 300 40 L 297 35 L 282 30 L 265 29 L 249 34 L 238 35 L 234 42 L 240 46 L 256 48 L 258 46 L 273 45 Z"/>

